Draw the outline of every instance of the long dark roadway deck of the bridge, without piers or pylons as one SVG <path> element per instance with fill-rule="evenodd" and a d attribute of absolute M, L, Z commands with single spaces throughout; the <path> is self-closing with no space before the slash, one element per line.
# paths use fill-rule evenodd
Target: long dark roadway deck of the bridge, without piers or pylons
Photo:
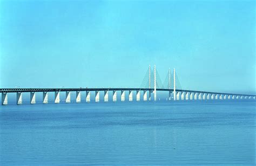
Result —
<path fill-rule="evenodd" d="M 2 89 L 0 89 L 0 93 L 75 92 L 75 91 L 80 91 L 80 92 L 81 91 L 154 91 L 154 88 L 2 88 Z M 167 91 L 167 92 L 171 91 L 171 92 L 173 92 L 173 89 L 157 88 L 157 91 Z M 185 90 L 185 89 L 176 89 L 176 92 L 256 96 L 256 95 L 251 95 L 251 94 L 192 91 L 192 90 Z"/>

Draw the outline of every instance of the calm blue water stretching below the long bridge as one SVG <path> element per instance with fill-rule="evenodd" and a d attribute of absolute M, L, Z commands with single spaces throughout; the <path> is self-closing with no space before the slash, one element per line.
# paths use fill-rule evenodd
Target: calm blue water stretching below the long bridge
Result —
<path fill-rule="evenodd" d="M 3 164 L 255 164 L 255 101 L 0 106 Z"/>

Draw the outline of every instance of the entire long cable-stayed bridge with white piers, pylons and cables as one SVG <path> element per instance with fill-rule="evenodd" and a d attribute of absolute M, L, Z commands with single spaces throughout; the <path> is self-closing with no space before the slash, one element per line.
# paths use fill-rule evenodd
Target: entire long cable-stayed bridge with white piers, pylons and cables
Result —
<path fill-rule="evenodd" d="M 151 77 L 152 75 L 152 77 Z M 153 85 L 153 87 L 151 87 Z M 65 102 L 71 102 L 71 92 L 76 92 L 76 102 L 81 102 L 81 92 L 86 93 L 86 102 L 91 101 L 91 92 L 95 92 L 95 101 L 99 102 L 99 93 L 104 92 L 104 101 L 109 101 L 109 91 L 113 91 L 112 101 L 117 101 L 117 91 L 120 91 L 121 101 L 125 101 L 125 92 L 129 92 L 129 101 L 133 101 L 133 91 L 136 92 L 136 101 L 140 101 L 140 92 L 143 92 L 143 101 L 152 100 L 151 94 L 154 94 L 154 101 L 157 101 L 157 91 L 169 92 L 169 100 L 232 100 L 232 99 L 255 99 L 252 94 L 219 93 L 207 91 L 193 91 L 181 88 L 175 68 L 173 73 L 169 68 L 164 83 L 162 83 L 159 74 L 154 65 L 153 70 L 149 66 L 142 84 L 139 88 L 1 88 L 2 105 L 8 105 L 8 93 L 17 94 L 17 105 L 22 104 L 22 94 L 30 93 L 30 103 L 36 103 L 36 93 L 43 93 L 43 103 L 48 103 L 49 92 L 54 92 L 54 102 L 60 102 L 60 92 L 66 93 Z M 148 95 L 148 96 L 147 96 Z M 172 97 L 173 96 L 173 97 Z"/>

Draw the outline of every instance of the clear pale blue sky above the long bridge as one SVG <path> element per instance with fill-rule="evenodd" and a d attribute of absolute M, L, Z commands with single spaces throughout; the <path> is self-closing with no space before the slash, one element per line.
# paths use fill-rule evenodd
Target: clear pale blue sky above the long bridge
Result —
<path fill-rule="evenodd" d="M 139 87 L 149 65 L 184 89 L 255 94 L 255 1 L 0 1 L 0 87 Z"/>

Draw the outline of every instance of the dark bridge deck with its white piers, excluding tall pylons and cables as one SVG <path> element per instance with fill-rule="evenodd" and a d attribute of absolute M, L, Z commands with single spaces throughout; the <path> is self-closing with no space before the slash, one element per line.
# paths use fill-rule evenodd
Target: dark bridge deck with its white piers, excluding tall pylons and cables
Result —
<path fill-rule="evenodd" d="M 104 101 L 109 101 L 109 91 L 113 91 L 113 101 L 117 101 L 117 91 L 121 92 L 121 101 L 125 101 L 125 91 L 129 91 L 129 101 L 133 100 L 132 92 L 136 91 L 136 100 L 140 101 L 140 91 L 143 91 L 143 100 L 151 100 L 151 93 L 154 88 L 2 88 L 2 105 L 8 104 L 8 93 L 17 93 L 17 104 L 22 104 L 22 93 L 30 92 L 30 103 L 36 103 L 36 92 L 43 92 L 43 103 L 48 103 L 48 93 L 55 93 L 55 103 L 60 101 L 60 92 L 66 92 L 66 102 L 71 102 L 71 92 L 76 92 L 76 102 L 81 101 L 81 93 L 86 92 L 86 102 L 91 101 L 91 91 L 95 91 L 95 101 L 99 102 L 99 92 L 104 91 Z M 235 94 L 235 93 L 220 93 L 207 91 L 191 91 L 184 89 L 165 89 L 156 88 L 156 91 L 169 92 L 169 100 L 173 95 L 173 100 L 223 100 L 223 99 L 255 99 L 256 95 L 251 94 Z M 147 93 L 148 92 L 148 93 Z M 147 94 L 149 98 L 147 98 Z M 154 100 L 157 100 L 154 93 Z"/>

